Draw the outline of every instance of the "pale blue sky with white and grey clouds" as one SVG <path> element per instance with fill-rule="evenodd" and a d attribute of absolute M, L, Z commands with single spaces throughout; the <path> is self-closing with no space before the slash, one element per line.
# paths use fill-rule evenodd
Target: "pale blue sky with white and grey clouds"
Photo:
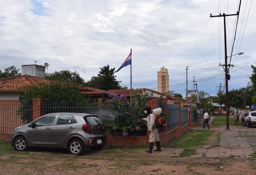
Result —
<path fill-rule="evenodd" d="M 85 80 L 117 70 L 132 49 L 132 87 L 157 90 L 168 69 L 171 91 L 225 92 L 224 18 L 240 0 L 1 0 L 0 70 L 44 65 Z M 256 64 L 256 4 L 242 0 L 226 17 L 229 90 L 245 87 Z M 235 55 L 244 52 L 243 55 Z M 188 66 L 188 67 L 187 67 Z M 186 70 L 186 68 L 188 68 Z M 130 88 L 130 65 L 115 73 Z M 195 87 L 196 88 L 196 87 Z"/>

